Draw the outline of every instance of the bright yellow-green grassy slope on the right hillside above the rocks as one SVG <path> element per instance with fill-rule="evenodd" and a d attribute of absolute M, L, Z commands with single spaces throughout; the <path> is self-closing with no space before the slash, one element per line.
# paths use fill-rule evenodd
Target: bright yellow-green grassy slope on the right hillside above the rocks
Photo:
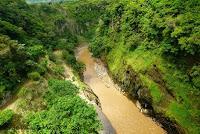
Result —
<path fill-rule="evenodd" d="M 144 86 L 151 93 L 153 107 L 157 112 L 162 111 L 172 119 L 175 119 L 187 133 L 197 134 L 200 132 L 199 125 L 199 90 L 188 82 L 188 76 L 176 65 L 164 59 L 158 50 L 144 50 L 138 47 L 134 51 L 129 51 L 123 44 L 116 45 L 108 54 L 107 62 L 111 73 L 118 74 L 119 79 L 123 79 L 121 70 L 126 65 L 130 65 L 139 74 Z M 165 81 L 166 88 L 175 96 L 169 98 L 157 83 L 146 76 L 146 72 L 153 65 L 160 70 Z M 166 100 L 166 101 L 165 101 Z M 170 102 L 166 103 L 165 102 Z"/>

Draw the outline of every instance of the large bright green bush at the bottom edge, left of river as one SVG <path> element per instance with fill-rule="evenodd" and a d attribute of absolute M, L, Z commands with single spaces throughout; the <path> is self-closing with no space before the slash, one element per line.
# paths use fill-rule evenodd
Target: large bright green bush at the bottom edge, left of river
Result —
<path fill-rule="evenodd" d="M 33 133 L 88 134 L 98 133 L 100 123 L 94 108 L 79 97 L 56 98 L 48 110 L 26 117 Z"/>

